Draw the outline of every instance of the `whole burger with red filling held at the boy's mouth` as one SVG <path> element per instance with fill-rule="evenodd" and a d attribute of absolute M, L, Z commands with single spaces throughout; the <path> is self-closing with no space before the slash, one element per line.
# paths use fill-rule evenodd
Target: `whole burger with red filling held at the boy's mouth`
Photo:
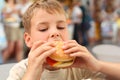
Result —
<path fill-rule="evenodd" d="M 70 57 L 68 54 L 65 54 L 62 46 L 62 41 L 55 41 L 56 52 L 47 57 L 47 63 L 52 67 L 63 68 L 68 67 L 73 64 L 74 57 Z"/>

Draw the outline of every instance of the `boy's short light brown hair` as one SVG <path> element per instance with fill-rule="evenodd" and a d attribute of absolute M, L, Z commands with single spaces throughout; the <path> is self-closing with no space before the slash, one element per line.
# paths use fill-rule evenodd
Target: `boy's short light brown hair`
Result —
<path fill-rule="evenodd" d="M 31 19 L 35 14 L 36 9 L 43 9 L 49 14 L 65 14 L 62 5 L 57 0 L 36 0 L 35 2 L 33 2 L 33 4 L 31 4 L 31 6 L 26 10 L 26 12 L 22 16 L 22 23 L 25 32 L 30 33 Z"/>

